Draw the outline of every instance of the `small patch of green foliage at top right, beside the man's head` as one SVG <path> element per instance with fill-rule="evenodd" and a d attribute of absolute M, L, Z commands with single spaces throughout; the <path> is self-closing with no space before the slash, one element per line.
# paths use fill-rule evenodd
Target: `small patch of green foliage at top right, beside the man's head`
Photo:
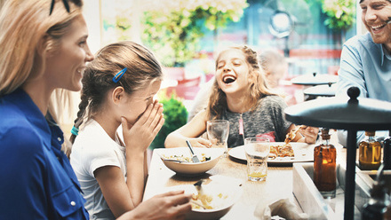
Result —
<path fill-rule="evenodd" d="M 324 25 L 333 30 L 347 30 L 355 23 L 355 0 L 321 0 L 327 15 Z"/>

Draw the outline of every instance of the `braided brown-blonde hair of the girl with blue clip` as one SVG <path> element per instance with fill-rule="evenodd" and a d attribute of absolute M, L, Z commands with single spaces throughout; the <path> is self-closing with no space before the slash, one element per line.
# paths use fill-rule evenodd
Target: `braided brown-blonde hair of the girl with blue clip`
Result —
<path fill-rule="evenodd" d="M 124 68 L 126 72 L 117 83 L 113 77 Z M 108 90 L 124 87 L 128 94 L 145 88 L 148 83 L 163 80 L 162 67 L 154 54 L 146 47 L 131 41 L 111 43 L 97 52 L 88 63 L 82 79 L 83 90 L 75 128 L 97 114 L 104 105 Z M 70 141 L 74 143 L 72 134 Z"/>

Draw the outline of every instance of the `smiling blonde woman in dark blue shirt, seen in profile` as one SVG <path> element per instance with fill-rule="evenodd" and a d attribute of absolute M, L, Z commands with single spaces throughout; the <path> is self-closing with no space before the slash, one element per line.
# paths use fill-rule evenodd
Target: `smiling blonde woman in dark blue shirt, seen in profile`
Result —
<path fill-rule="evenodd" d="M 1 9 L 0 219 L 89 218 L 61 151 L 64 137 L 54 111 L 61 106 L 51 99 L 57 90 L 81 90 L 85 64 L 93 59 L 82 5 L 9 0 Z M 183 192 L 158 195 L 124 217 L 181 217 L 188 200 Z"/>

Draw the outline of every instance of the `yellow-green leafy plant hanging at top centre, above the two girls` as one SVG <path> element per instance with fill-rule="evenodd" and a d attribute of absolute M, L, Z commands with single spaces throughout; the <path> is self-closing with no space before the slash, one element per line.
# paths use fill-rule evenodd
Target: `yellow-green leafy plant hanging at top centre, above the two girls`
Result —
<path fill-rule="evenodd" d="M 205 27 L 216 30 L 238 21 L 247 6 L 245 0 L 150 2 L 144 12 L 142 41 L 165 67 L 184 67 L 200 50 Z"/>

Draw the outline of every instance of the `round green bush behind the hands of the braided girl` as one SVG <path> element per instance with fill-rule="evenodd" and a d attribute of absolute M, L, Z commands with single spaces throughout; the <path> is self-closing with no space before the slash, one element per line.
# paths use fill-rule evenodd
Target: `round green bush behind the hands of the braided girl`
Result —
<path fill-rule="evenodd" d="M 163 92 L 164 93 L 164 92 Z M 179 129 L 188 120 L 188 110 L 183 103 L 172 93 L 170 98 L 164 96 L 159 98 L 159 102 L 164 106 L 164 125 L 156 138 L 150 145 L 150 148 L 164 148 L 164 141 L 172 131 Z"/>

